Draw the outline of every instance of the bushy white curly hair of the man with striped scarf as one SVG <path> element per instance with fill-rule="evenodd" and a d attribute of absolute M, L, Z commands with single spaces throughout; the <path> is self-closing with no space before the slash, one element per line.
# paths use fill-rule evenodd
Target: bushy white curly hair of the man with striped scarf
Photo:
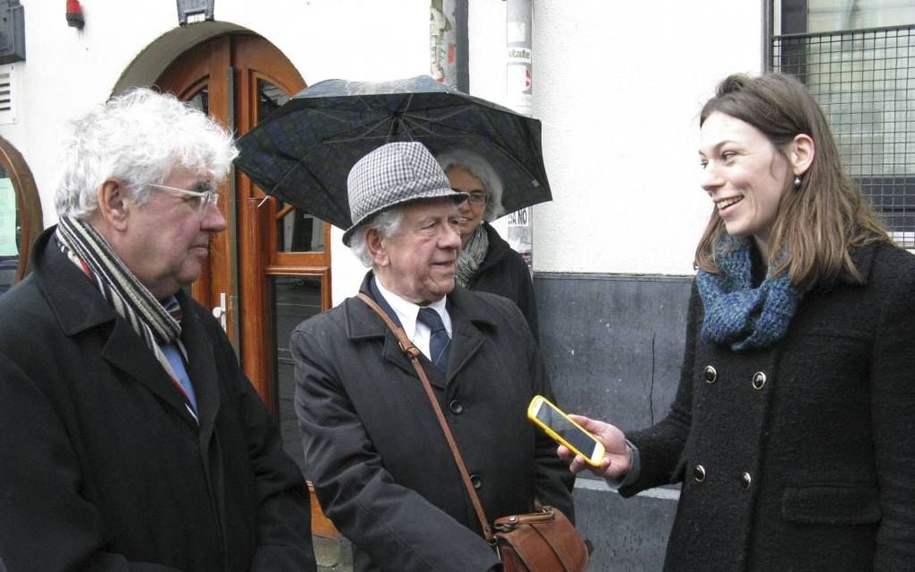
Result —
<path fill-rule="evenodd" d="M 238 155 L 231 134 L 171 94 L 133 88 L 70 125 L 54 204 L 58 216 L 85 220 L 98 210 L 107 179 L 124 184 L 136 204 L 148 202 L 176 168 L 226 178 Z"/>

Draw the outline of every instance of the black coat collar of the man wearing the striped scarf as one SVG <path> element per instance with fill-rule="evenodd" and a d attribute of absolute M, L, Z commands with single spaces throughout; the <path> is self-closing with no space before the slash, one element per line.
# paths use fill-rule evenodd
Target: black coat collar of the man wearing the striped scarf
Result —
<path fill-rule="evenodd" d="M 98 327 L 107 329 L 102 346 L 102 359 L 122 370 L 138 383 L 142 383 L 150 392 L 178 410 L 178 414 L 189 424 L 197 426 L 197 422 L 188 413 L 184 397 L 169 379 L 162 365 L 156 361 L 156 357 L 146 348 L 143 340 L 136 335 L 130 324 L 120 318 L 114 308 L 105 301 L 98 288 L 92 284 L 92 279 L 70 262 L 66 254 L 60 252 L 54 239 L 56 228 L 56 226 L 51 227 L 38 237 L 32 251 L 32 267 L 35 269 L 34 279 L 38 283 L 38 288 L 48 300 L 48 306 L 57 318 L 60 329 L 70 338 Z M 186 312 L 186 315 L 190 314 L 190 312 Z M 191 327 L 191 330 L 193 331 L 194 328 Z M 186 332 L 182 331 L 182 337 L 185 336 Z M 207 348 L 209 344 L 202 344 L 202 346 Z M 203 370 L 213 368 L 194 367 L 195 362 L 205 359 L 206 356 L 195 355 L 200 352 L 197 341 L 188 343 L 188 347 L 194 348 L 193 351 L 189 351 L 194 359 L 188 365 L 188 373 L 192 380 L 201 382 L 194 383 L 195 391 L 204 385 L 217 387 L 212 385 L 212 380 L 195 379 L 198 375 L 204 375 Z M 206 390 L 201 393 L 203 395 L 198 395 L 198 398 L 203 397 L 203 403 L 210 404 L 210 407 L 215 409 L 212 405 L 214 397 L 209 395 Z M 218 402 L 218 397 L 215 399 Z M 200 401 L 198 405 L 203 410 Z M 200 412 L 198 415 L 201 416 Z M 215 412 L 212 412 L 212 415 L 208 414 L 209 416 L 215 417 Z M 202 423 L 202 421 L 201 416 L 200 422 Z"/>

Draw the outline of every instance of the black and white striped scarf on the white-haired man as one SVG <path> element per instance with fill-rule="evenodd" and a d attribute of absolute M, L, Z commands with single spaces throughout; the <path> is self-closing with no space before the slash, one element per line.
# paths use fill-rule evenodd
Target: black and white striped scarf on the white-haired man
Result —
<path fill-rule="evenodd" d="M 61 217 L 55 236 L 60 250 L 98 286 L 102 297 L 130 324 L 189 403 L 188 394 L 178 383 L 178 377 L 159 347 L 160 344 L 175 344 L 185 361 L 188 359 L 188 351 L 180 338 L 181 310 L 178 305 L 173 304 L 169 308 L 171 312 L 164 308 L 124 266 L 108 241 L 92 225 L 73 217 Z"/>

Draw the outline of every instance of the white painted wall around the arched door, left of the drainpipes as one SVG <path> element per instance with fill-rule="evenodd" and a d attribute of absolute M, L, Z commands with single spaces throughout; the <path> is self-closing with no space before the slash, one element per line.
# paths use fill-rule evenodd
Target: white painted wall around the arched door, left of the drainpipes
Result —
<path fill-rule="evenodd" d="M 154 81 L 190 48 L 202 27 L 249 29 L 282 50 L 308 84 L 331 78 L 377 81 L 429 71 L 428 0 L 218 0 L 219 24 L 178 27 L 174 0 L 83 0 L 86 25 L 68 27 L 65 3 L 22 0 L 26 61 L 13 64 L 16 123 L 0 124 L 26 158 L 45 224 L 54 211 L 57 142 L 68 120 L 104 101 L 116 85 Z M 143 65 L 133 65 L 135 60 Z M 139 69 L 138 69 L 139 68 Z M 349 296 L 364 270 L 333 233 L 333 297 Z"/>

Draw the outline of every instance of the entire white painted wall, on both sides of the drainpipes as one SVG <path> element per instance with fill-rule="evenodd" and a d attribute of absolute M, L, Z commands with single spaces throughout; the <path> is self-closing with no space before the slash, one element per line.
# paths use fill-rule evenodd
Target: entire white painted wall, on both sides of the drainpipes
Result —
<path fill-rule="evenodd" d="M 22 0 L 27 60 L 13 64 L 16 123 L 0 124 L 53 209 L 68 119 L 124 82 L 149 82 L 203 26 L 264 36 L 307 83 L 429 70 L 429 0 L 218 0 L 220 24 L 178 28 L 173 1 Z M 697 184 L 696 113 L 716 81 L 759 71 L 761 2 L 534 0 L 534 114 L 554 201 L 534 208 L 539 272 L 689 274 L 710 208 Z M 504 0 L 470 0 L 470 92 L 504 103 Z M 198 31 L 195 31 L 198 30 Z M 136 62 L 142 61 L 143 65 Z M 504 229 L 504 222 L 497 228 Z M 334 303 L 364 272 L 332 233 Z"/>

